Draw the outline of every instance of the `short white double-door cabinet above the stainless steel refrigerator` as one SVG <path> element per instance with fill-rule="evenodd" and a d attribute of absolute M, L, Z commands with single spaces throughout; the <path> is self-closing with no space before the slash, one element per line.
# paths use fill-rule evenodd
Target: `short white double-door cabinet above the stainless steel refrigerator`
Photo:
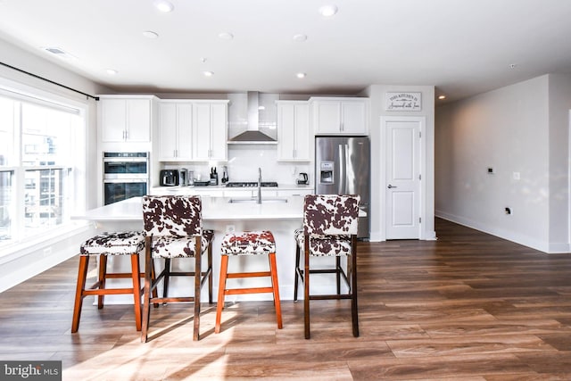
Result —
<path fill-rule="evenodd" d="M 368 135 L 368 98 L 311 97 L 316 135 Z"/>

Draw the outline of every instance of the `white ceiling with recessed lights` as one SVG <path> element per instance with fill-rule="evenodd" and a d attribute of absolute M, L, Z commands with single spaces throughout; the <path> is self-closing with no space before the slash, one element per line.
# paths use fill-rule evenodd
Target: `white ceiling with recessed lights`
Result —
<path fill-rule="evenodd" d="M 371 84 L 434 85 L 455 100 L 571 72 L 569 0 L 170 2 L 174 11 L 161 13 L 153 0 L 0 0 L 0 38 L 121 92 L 355 94 Z M 335 16 L 319 14 L 324 4 L 337 6 Z M 300 33 L 306 41 L 294 41 Z"/>

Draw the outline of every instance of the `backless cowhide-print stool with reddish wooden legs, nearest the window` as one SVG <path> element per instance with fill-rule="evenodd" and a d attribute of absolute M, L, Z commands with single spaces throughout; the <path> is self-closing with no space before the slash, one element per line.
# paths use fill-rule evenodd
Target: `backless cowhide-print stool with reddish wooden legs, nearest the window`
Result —
<path fill-rule="evenodd" d="M 133 294 L 135 304 L 135 325 L 137 331 L 141 330 L 141 282 L 140 277 L 145 273 L 139 270 L 139 252 L 145 248 L 145 236 L 137 231 L 124 233 L 103 233 L 89 238 L 81 244 L 79 250 L 78 285 L 75 293 L 75 305 L 73 307 L 73 319 L 71 332 L 79 329 L 81 307 L 83 298 L 87 295 L 97 295 L 97 308 L 103 308 L 103 296 L 110 294 Z M 86 289 L 87 267 L 91 256 L 99 255 L 99 275 L 97 282 Z M 108 273 L 108 255 L 129 255 L 131 257 L 131 272 Z M 105 280 L 112 278 L 128 278 L 133 280 L 133 286 L 129 288 L 106 288 Z"/>

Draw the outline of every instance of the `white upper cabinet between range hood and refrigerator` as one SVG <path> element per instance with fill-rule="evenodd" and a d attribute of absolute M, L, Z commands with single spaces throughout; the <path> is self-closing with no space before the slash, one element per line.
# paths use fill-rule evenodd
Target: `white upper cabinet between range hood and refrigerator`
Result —
<path fill-rule="evenodd" d="M 309 162 L 310 104 L 300 101 L 277 101 L 277 160 Z"/>

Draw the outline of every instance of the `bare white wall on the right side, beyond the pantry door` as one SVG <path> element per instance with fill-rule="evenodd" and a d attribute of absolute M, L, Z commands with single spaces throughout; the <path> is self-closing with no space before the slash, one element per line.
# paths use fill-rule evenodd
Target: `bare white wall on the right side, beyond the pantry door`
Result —
<path fill-rule="evenodd" d="M 544 75 L 438 107 L 436 215 L 566 252 L 569 84 Z"/>

